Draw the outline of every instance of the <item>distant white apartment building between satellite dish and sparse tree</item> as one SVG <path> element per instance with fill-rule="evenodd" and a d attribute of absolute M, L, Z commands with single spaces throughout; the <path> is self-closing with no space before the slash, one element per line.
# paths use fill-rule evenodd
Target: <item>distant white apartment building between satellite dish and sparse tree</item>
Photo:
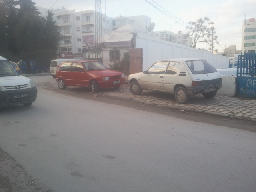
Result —
<path fill-rule="evenodd" d="M 173 43 L 182 44 L 185 46 L 191 46 L 191 38 L 183 33 L 176 33 L 170 31 L 154 31 L 152 36 L 164 41 L 170 41 Z"/>

